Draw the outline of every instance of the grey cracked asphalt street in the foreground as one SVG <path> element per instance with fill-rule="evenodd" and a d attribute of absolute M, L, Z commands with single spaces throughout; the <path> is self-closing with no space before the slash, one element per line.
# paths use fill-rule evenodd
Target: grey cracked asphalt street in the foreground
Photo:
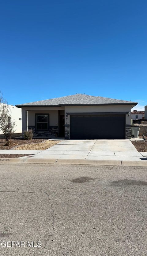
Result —
<path fill-rule="evenodd" d="M 0 255 L 146 256 L 146 219 L 146 167 L 0 163 Z"/>

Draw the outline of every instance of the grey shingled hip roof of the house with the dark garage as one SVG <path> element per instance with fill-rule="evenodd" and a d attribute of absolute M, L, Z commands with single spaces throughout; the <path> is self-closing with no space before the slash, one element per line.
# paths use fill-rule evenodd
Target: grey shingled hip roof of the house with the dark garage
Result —
<path fill-rule="evenodd" d="M 64 96 L 60 98 L 53 98 L 48 100 L 35 101 L 16 105 L 17 107 L 22 106 L 73 106 L 73 105 L 109 105 L 109 104 L 123 104 L 123 105 L 137 105 L 136 102 L 117 100 L 111 98 L 104 98 L 99 96 L 90 96 L 86 94 L 74 94 Z"/>

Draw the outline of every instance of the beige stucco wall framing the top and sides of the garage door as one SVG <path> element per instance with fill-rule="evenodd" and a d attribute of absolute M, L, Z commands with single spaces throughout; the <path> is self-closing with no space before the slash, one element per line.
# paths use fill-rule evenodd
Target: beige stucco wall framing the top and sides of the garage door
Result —
<path fill-rule="evenodd" d="M 133 106 L 132 106 L 133 107 Z M 73 113 L 90 113 L 90 112 L 130 112 L 130 116 L 126 115 L 126 124 L 131 124 L 131 105 L 115 105 L 115 106 L 65 106 L 65 124 L 70 124 L 70 116 L 66 117 L 66 112 Z"/>

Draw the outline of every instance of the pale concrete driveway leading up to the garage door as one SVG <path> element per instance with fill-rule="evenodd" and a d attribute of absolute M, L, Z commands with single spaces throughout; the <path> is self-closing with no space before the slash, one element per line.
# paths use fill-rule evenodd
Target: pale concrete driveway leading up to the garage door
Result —
<path fill-rule="evenodd" d="M 33 158 L 132 160 L 143 156 L 128 140 L 63 140 Z"/>

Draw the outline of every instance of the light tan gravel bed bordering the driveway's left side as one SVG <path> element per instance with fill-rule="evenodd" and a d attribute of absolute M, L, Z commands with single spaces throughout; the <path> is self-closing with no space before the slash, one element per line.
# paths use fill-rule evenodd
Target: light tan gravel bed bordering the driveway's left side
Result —
<path fill-rule="evenodd" d="M 46 150 L 47 148 L 50 148 L 59 142 L 60 141 L 46 140 L 42 143 L 19 146 L 16 147 L 15 150 Z"/>

